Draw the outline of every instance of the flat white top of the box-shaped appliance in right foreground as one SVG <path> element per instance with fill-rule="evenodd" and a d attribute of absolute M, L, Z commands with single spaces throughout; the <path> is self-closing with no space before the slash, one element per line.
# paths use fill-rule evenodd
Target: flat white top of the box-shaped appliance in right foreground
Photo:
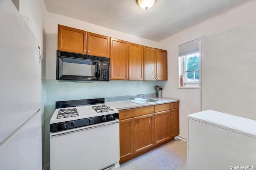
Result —
<path fill-rule="evenodd" d="M 188 119 L 256 138 L 256 121 L 251 119 L 212 110 L 188 115 Z"/>

